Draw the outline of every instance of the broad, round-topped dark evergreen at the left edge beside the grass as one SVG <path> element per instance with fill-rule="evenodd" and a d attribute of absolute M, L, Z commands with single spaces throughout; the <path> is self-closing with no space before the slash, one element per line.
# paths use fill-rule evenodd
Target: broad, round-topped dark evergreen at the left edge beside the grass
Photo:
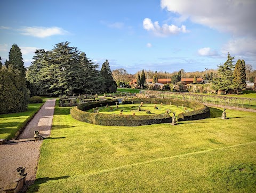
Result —
<path fill-rule="evenodd" d="M 0 90 L 0 114 L 27 110 L 29 91 L 21 71 L 3 66 L 0 69 Z"/>

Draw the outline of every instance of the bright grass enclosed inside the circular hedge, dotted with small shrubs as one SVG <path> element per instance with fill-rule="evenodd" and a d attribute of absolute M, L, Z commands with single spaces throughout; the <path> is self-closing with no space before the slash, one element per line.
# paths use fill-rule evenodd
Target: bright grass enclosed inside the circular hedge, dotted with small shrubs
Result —
<path fill-rule="evenodd" d="M 165 114 L 166 110 L 171 110 L 171 112 L 175 111 L 175 114 L 178 115 L 181 112 L 186 112 L 185 107 L 182 106 L 177 107 L 174 105 L 165 105 L 163 104 L 156 104 L 158 109 L 154 108 L 155 104 L 143 104 L 142 107 L 140 107 L 140 111 L 138 110 L 139 104 L 118 104 L 118 108 L 116 106 L 109 106 L 109 107 L 102 107 L 98 108 L 100 113 L 104 114 L 120 114 L 121 110 L 123 110 L 123 115 L 132 115 L 135 113 L 135 115 L 151 115 L 151 114 Z M 113 108 L 113 110 L 110 110 L 110 108 Z M 187 110 L 193 111 L 193 109 L 190 109 L 186 107 Z M 94 109 L 95 110 L 95 109 Z M 146 111 L 150 111 L 151 114 L 147 114 Z M 92 112 L 92 109 L 87 110 L 87 112 Z"/>

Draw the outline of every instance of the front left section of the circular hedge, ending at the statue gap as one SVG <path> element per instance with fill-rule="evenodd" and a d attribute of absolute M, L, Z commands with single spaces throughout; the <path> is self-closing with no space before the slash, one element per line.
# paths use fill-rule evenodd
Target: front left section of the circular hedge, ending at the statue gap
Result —
<path fill-rule="evenodd" d="M 158 123 L 170 123 L 172 117 L 169 114 L 162 115 L 108 115 L 102 113 L 85 112 L 74 107 L 70 110 L 71 117 L 82 122 L 107 125 L 107 126 L 140 126 Z"/>

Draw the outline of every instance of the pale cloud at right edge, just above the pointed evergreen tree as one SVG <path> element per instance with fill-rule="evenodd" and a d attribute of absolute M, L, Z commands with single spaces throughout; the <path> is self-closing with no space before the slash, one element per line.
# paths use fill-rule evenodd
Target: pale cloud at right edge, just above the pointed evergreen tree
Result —
<path fill-rule="evenodd" d="M 256 59 L 256 39 L 252 38 L 235 38 L 228 41 L 222 46 L 221 53 L 227 55 L 242 55 L 254 57 Z"/>

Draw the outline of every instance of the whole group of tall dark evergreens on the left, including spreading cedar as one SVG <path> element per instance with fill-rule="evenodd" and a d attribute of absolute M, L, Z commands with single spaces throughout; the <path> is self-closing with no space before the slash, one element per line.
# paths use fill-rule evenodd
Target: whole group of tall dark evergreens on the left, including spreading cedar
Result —
<path fill-rule="evenodd" d="M 0 114 L 25 111 L 29 95 L 116 92 L 108 60 L 98 68 L 84 52 L 62 42 L 50 51 L 36 50 L 26 71 L 20 48 L 13 44 L 9 60 L 0 62 Z"/>

